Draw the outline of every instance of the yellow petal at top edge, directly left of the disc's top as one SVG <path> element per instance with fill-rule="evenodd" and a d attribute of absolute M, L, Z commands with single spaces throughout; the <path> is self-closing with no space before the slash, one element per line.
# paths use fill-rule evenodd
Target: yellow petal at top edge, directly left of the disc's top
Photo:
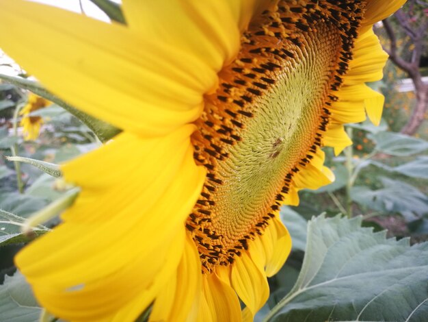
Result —
<path fill-rule="evenodd" d="M 126 22 L 144 38 L 162 39 L 196 54 L 215 71 L 237 55 L 240 37 L 255 12 L 277 1 L 124 0 Z"/>

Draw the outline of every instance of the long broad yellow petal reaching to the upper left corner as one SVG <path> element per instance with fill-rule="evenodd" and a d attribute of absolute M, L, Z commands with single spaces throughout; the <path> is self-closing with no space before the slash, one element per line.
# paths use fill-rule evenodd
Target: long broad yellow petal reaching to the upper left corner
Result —
<path fill-rule="evenodd" d="M 159 38 L 30 1 L 0 5 L 0 47 L 64 101 L 122 129 L 155 136 L 194 121 L 217 84 L 200 56 Z"/>

